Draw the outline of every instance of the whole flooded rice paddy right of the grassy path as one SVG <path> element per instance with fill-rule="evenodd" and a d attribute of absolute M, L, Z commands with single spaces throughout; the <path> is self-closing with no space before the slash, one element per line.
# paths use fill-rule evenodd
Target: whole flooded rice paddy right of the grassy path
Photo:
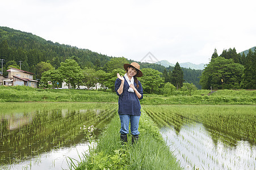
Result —
<path fill-rule="evenodd" d="M 186 169 L 256 169 L 256 107 L 144 105 Z"/>

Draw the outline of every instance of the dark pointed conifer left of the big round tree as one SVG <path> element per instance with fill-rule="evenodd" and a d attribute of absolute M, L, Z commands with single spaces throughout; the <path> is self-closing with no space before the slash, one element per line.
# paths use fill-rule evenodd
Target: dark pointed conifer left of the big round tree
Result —
<path fill-rule="evenodd" d="M 181 66 L 179 66 L 179 63 L 177 62 L 171 73 L 171 84 L 174 84 L 177 89 L 179 89 L 183 86 L 183 82 L 183 71 L 181 69 Z"/>

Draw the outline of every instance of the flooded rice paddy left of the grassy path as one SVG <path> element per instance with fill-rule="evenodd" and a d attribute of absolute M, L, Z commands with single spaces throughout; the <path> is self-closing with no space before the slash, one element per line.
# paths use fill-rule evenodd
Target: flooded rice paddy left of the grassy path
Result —
<path fill-rule="evenodd" d="M 31 168 L 45 156 L 52 162 L 52 152 L 87 142 L 81 126 L 94 125 L 97 135 L 117 112 L 115 103 L 0 103 L 0 108 L 0 169 Z"/>

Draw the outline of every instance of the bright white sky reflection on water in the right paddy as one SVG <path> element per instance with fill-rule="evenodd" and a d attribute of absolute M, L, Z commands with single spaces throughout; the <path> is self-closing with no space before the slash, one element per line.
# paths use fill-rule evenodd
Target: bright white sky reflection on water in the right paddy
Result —
<path fill-rule="evenodd" d="M 212 131 L 212 130 L 211 130 Z M 174 151 L 183 167 L 199 169 L 255 169 L 256 145 L 248 141 L 236 141 L 236 145 L 213 137 L 203 124 L 186 124 L 179 129 L 161 128 L 167 145 Z M 225 137 L 226 138 L 226 137 Z"/>

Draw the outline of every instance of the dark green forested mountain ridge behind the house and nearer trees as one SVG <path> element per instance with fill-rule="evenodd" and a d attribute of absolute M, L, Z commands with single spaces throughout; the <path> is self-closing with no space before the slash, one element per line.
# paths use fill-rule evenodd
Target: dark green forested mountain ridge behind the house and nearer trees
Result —
<path fill-rule="evenodd" d="M 0 27 L 0 59 L 3 62 L 3 74 L 7 75 L 7 66 L 16 65 L 19 68 L 21 62 L 22 70 L 37 73 L 36 65 L 40 62 L 48 62 L 57 69 L 60 63 L 66 59 L 77 61 L 81 69 L 85 67 L 98 70 L 104 67 L 113 57 L 109 57 L 89 49 L 79 49 L 75 46 L 53 43 L 32 33 L 18 31 L 8 27 Z M 128 60 L 132 62 L 132 60 Z M 163 73 L 165 67 L 159 64 L 140 63 L 142 68 L 152 68 Z M 169 66 L 167 71 L 172 71 L 174 67 Z M 103 69 L 104 70 L 104 69 Z M 184 82 L 193 83 L 200 88 L 199 76 L 202 70 L 192 70 L 182 68 L 184 72 Z"/>

